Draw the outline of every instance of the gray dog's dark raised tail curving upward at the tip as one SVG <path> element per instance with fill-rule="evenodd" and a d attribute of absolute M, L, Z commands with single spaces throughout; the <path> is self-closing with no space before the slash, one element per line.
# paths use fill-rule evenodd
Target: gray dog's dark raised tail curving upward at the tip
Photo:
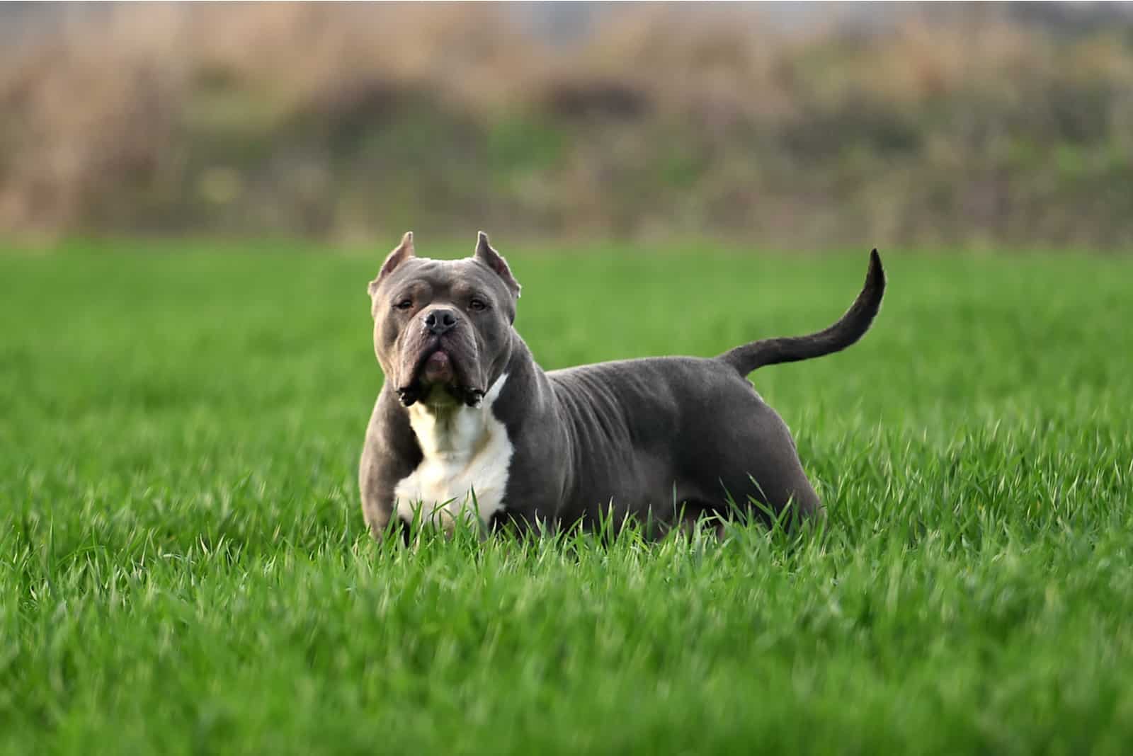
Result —
<path fill-rule="evenodd" d="M 838 352 L 866 335 L 874 317 L 881 309 L 885 293 L 885 270 L 881 258 L 875 249 L 869 254 L 869 270 L 866 284 L 846 313 L 829 328 L 808 336 L 764 338 L 721 354 L 718 360 L 732 366 L 747 376 L 756 368 L 780 362 L 796 362 Z"/>

